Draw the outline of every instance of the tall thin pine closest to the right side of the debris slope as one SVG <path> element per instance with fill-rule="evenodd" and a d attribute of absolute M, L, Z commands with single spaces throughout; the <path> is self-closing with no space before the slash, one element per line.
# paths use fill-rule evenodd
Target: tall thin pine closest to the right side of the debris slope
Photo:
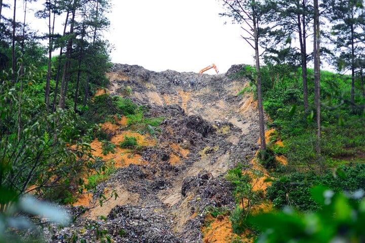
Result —
<path fill-rule="evenodd" d="M 260 125 L 260 150 L 261 156 L 265 159 L 265 120 L 262 96 L 262 83 L 260 73 L 260 30 L 263 20 L 263 6 L 260 1 L 255 0 L 223 0 L 227 12 L 221 14 L 231 17 L 235 22 L 242 24 L 241 28 L 245 32 L 242 38 L 253 48 L 255 53 L 256 85 L 258 93 L 259 125 Z"/>

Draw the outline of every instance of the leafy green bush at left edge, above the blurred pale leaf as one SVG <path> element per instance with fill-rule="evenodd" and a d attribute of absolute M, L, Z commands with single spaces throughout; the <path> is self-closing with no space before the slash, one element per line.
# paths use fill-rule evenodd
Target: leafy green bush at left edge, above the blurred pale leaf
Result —
<path fill-rule="evenodd" d="M 17 195 L 32 192 L 53 198 L 62 194 L 56 190 L 80 186 L 78 171 L 85 165 L 83 155 L 90 152 L 89 138 L 76 129 L 79 117 L 74 111 L 35 116 L 33 104 L 17 85 L 6 80 L 0 84 L 0 185 Z"/>

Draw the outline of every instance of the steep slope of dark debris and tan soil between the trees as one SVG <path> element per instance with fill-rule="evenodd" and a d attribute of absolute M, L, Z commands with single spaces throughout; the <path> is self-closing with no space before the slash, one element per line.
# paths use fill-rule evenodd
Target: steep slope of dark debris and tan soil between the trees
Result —
<path fill-rule="evenodd" d="M 96 223 L 116 242 L 201 242 L 204 209 L 234 207 L 232 185 L 223 175 L 237 163 L 249 163 L 258 149 L 255 102 L 249 95 L 236 96 L 245 80 L 228 77 L 237 68 L 208 75 L 115 64 L 107 74 L 107 92 L 127 95 L 149 108 L 147 116 L 165 120 L 154 135 L 156 143 L 136 155 L 137 163 L 121 158 L 115 175 L 87 197 L 93 203 L 100 193 L 115 189 L 116 200 L 49 233 L 58 239 L 74 234 L 89 242 L 95 229 L 85 225 Z M 123 126 L 117 122 L 115 136 L 125 133 Z M 79 212 L 80 206 L 71 210 Z M 101 222 L 99 215 L 107 220 Z"/>

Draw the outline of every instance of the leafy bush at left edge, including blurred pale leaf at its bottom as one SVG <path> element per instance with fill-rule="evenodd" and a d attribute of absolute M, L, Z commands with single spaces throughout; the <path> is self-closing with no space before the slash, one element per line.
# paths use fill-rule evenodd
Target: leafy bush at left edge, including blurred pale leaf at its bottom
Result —
<path fill-rule="evenodd" d="M 57 217 L 65 219 L 64 212 L 34 198 L 61 203 L 72 200 L 70 192 L 82 187 L 79 173 L 91 156 L 89 137 L 80 136 L 77 126 L 83 122 L 73 110 L 48 113 L 38 101 L 40 97 L 29 96 L 35 74 L 27 70 L 17 77 L 23 89 L 19 83 L 13 84 L 6 73 L 0 80 L 2 242 L 16 242 L 28 229 L 33 229 L 28 220 L 31 216 L 40 224 L 45 217 L 55 221 Z"/>

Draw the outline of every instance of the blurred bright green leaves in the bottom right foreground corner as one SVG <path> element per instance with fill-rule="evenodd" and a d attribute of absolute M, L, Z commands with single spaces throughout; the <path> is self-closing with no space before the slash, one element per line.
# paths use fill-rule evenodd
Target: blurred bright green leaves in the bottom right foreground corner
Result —
<path fill-rule="evenodd" d="M 363 191 L 352 195 L 334 193 L 323 187 L 310 190 L 320 205 L 317 212 L 301 213 L 291 208 L 266 213 L 248 221 L 262 234 L 257 242 L 361 242 L 365 238 Z"/>

